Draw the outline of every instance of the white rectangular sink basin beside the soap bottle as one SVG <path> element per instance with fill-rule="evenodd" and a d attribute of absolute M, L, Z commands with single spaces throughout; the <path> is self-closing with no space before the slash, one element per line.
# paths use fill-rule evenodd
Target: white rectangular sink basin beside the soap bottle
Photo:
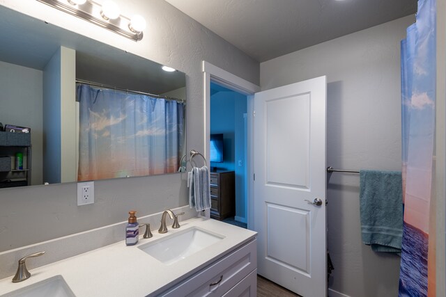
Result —
<path fill-rule="evenodd" d="M 139 248 L 158 261 L 169 265 L 180 259 L 185 259 L 222 239 L 224 239 L 224 236 L 220 234 L 191 227 L 163 239 L 147 243 L 144 246 L 139 246 Z"/>

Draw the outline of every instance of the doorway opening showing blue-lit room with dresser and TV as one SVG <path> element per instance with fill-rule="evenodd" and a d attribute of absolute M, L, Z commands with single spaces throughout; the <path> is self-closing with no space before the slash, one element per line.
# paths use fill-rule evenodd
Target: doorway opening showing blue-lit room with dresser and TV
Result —
<path fill-rule="evenodd" d="M 247 95 L 210 82 L 210 218 L 247 227 Z"/>

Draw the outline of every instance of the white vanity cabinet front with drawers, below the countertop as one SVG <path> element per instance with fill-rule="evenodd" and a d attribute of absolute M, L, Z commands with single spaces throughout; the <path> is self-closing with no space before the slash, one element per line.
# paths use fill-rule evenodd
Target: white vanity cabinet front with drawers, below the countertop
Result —
<path fill-rule="evenodd" d="M 257 251 L 253 239 L 174 287 L 149 296 L 256 296 L 256 289 Z"/>

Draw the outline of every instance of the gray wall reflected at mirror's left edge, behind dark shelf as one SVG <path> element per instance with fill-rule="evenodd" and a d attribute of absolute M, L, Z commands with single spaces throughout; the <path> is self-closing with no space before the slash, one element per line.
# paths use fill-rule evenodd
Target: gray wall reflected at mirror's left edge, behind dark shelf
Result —
<path fill-rule="evenodd" d="M 42 184 L 42 80 L 40 70 L 0 61 L 0 122 L 31 128 L 33 184 Z"/>

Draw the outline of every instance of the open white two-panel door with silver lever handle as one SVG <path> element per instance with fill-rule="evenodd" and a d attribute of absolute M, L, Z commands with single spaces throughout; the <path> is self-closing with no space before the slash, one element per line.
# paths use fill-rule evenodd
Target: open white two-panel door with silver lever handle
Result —
<path fill-rule="evenodd" d="M 258 273 L 305 297 L 327 296 L 325 106 L 326 77 L 254 95 Z"/>

